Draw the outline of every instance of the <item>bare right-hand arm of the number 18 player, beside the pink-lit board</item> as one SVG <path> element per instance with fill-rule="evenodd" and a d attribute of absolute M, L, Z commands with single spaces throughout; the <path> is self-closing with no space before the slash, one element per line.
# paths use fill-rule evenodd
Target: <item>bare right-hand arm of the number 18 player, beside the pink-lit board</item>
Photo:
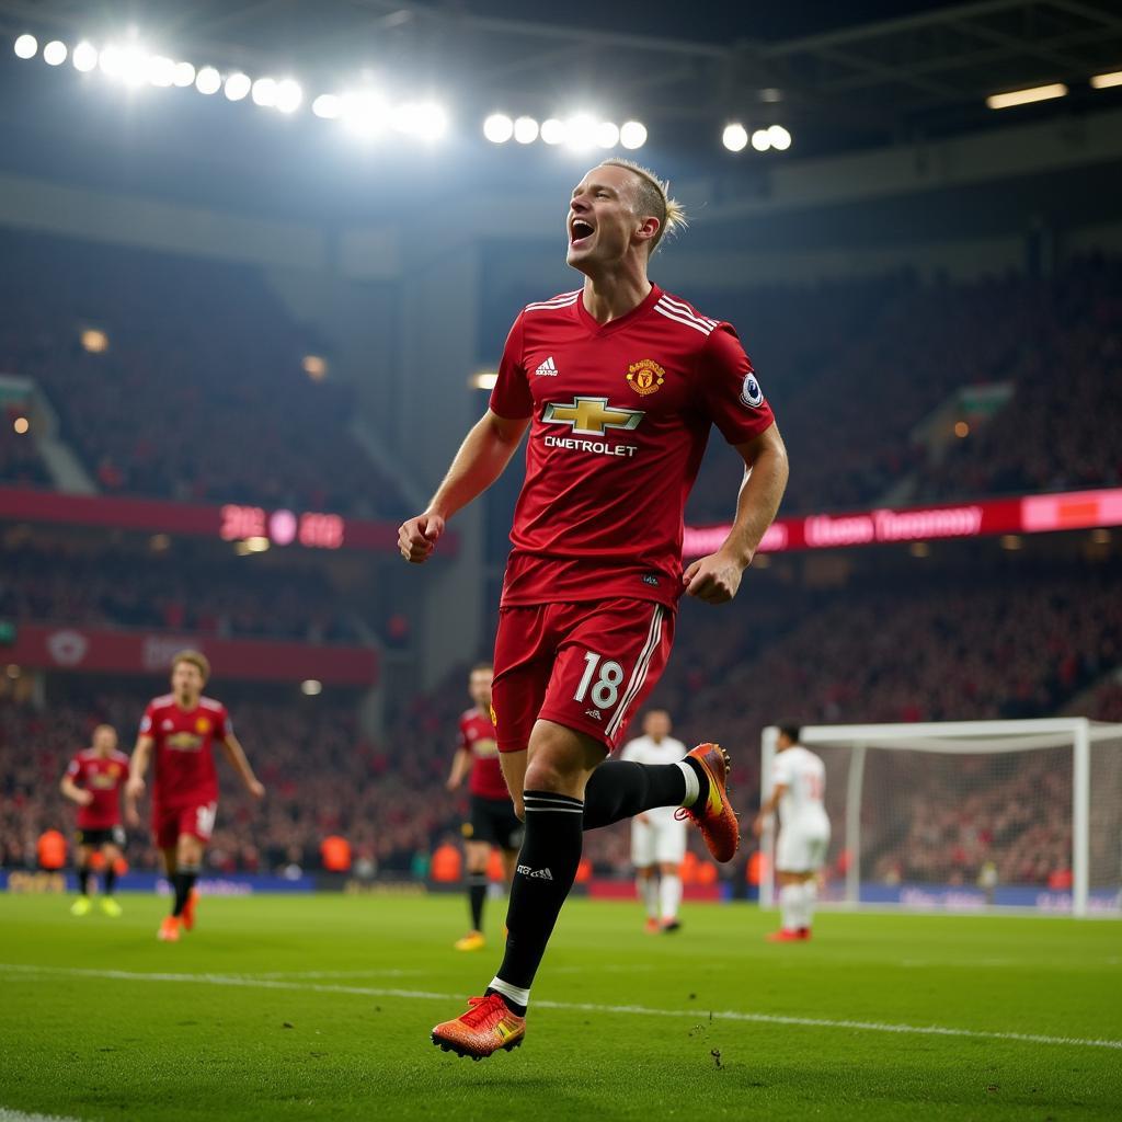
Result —
<path fill-rule="evenodd" d="M 787 448 L 774 424 L 736 450 L 745 472 L 733 528 L 716 553 L 699 558 L 682 573 L 687 595 L 707 604 L 727 604 L 736 596 L 741 577 L 774 522 L 787 489 Z"/>

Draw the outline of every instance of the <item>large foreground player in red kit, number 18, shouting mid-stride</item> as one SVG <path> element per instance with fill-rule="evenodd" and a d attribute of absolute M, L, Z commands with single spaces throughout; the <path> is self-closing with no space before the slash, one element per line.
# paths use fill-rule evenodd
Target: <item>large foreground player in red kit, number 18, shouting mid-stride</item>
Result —
<path fill-rule="evenodd" d="M 530 427 L 494 684 L 503 771 L 526 835 L 498 974 L 433 1029 L 435 1045 L 461 1056 L 522 1043 L 582 828 L 680 804 L 718 859 L 736 849 L 716 745 L 679 764 L 604 762 L 662 673 L 679 596 L 736 595 L 787 486 L 787 452 L 736 332 L 647 279 L 650 255 L 681 222 L 645 168 L 613 159 L 585 176 L 567 227 L 583 287 L 523 309 L 490 408 L 427 509 L 399 530 L 402 555 L 427 560 L 448 518 L 498 478 Z M 712 424 L 745 475 L 727 539 L 683 572 L 683 509 Z"/>

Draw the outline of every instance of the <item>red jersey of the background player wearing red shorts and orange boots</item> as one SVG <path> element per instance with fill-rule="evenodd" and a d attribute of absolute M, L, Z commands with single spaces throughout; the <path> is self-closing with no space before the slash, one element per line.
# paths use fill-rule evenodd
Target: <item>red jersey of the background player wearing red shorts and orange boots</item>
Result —
<path fill-rule="evenodd" d="M 171 693 L 154 698 L 145 709 L 140 732 L 156 742 L 155 806 L 190 809 L 218 802 L 212 746 L 230 732 L 230 717 L 221 701 L 200 698 L 194 709 L 181 709 Z"/>

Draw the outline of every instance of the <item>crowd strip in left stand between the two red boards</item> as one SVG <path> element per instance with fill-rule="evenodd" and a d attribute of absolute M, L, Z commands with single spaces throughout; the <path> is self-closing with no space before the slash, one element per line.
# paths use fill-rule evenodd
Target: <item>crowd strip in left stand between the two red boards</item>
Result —
<path fill-rule="evenodd" d="M 322 569 L 237 558 L 211 543 L 4 543 L 0 618 L 241 638 L 361 643 L 355 608 Z"/>

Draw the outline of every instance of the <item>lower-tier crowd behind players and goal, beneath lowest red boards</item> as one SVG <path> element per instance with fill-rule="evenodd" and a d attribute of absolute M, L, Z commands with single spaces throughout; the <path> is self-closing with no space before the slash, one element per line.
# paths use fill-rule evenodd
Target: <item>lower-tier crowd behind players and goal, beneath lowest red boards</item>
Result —
<path fill-rule="evenodd" d="M 843 724 L 1056 712 L 1122 660 L 1118 577 L 1116 564 L 1024 563 L 973 582 L 945 572 L 916 587 L 880 574 L 855 579 L 844 592 L 815 592 L 784 588 L 775 574 L 749 574 L 754 597 L 719 610 L 683 608 L 673 659 L 651 703 L 670 709 L 687 744 L 717 739 L 732 751 L 737 799 L 747 809 L 758 798 L 760 734 L 778 718 Z M 269 795 L 251 807 L 220 765 L 226 793 L 212 864 L 314 866 L 323 837 L 338 833 L 356 859 L 404 875 L 417 855 L 454 838 L 466 802 L 443 782 L 467 705 L 463 677 L 458 671 L 402 706 L 378 743 L 360 734 L 348 702 L 273 703 L 220 692 Z M 1116 696 L 1116 686 L 1105 687 L 1092 716 L 1110 716 Z M 38 831 L 70 820 L 57 779 L 92 725 L 108 719 L 128 743 L 145 700 L 130 692 L 42 711 L 0 707 L 4 861 L 25 862 Z M 843 764 L 842 756 L 827 760 L 835 859 Z M 871 779 L 871 806 L 881 818 L 866 824 L 866 867 L 884 880 L 971 884 L 991 861 L 1002 883 L 1045 884 L 1063 874 L 1069 770 L 1018 762 L 1008 774 L 978 775 L 975 790 L 971 769 L 982 766 L 940 772 L 919 787 L 914 775 L 910 783 L 888 773 Z M 155 862 L 142 838 L 130 853 L 141 867 Z M 591 831 L 585 853 L 599 872 L 623 874 L 626 824 Z"/>

